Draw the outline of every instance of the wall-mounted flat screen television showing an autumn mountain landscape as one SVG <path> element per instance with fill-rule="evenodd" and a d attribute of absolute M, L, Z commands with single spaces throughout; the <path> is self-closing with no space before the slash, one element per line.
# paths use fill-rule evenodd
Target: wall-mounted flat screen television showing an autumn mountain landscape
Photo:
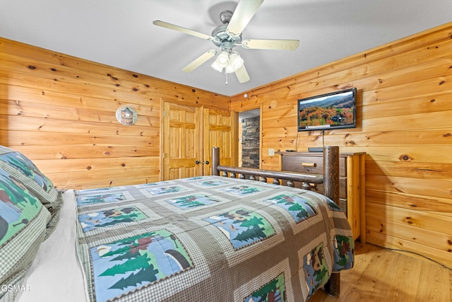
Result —
<path fill-rule="evenodd" d="M 355 127 L 356 88 L 298 100 L 298 131 Z"/>

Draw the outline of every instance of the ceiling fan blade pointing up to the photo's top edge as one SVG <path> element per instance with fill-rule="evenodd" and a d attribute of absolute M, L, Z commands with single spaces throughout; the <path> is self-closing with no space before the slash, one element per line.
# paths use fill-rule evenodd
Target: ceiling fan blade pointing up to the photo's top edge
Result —
<path fill-rule="evenodd" d="M 227 33 L 232 36 L 240 35 L 262 2 L 263 0 L 241 0 L 232 14 L 230 23 L 227 25 Z"/>

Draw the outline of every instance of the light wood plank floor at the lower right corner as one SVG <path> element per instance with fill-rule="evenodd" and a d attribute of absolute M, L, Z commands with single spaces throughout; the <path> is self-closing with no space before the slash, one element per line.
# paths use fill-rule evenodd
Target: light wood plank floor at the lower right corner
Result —
<path fill-rule="evenodd" d="M 452 301 L 452 269 L 430 260 L 355 243 L 355 266 L 340 275 L 340 296 L 317 291 L 309 302 Z"/>

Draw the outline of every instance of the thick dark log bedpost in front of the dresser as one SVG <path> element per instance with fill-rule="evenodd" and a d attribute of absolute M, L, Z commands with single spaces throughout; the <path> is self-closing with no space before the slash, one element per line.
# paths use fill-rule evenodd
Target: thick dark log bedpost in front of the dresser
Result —
<path fill-rule="evenodd" d="M 339 147 L 327 146 L 323 148 L 323 185 L 326 197 L 336 204 L 339 204 Z M 340 293 L 340 273 L 331 273 L 330 279 L 323 286 L 330 296 L 339 296 Z"/>

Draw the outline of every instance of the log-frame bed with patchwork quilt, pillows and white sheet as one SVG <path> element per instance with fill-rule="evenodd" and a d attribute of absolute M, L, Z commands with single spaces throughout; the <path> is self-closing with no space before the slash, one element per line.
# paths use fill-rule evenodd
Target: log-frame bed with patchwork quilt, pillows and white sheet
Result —
<path fill-rule="evenodd" d="M 339 272 L 354 263 L 352 231 L 334 202 L 338 148 L 325 149 L 323 178 L 237 170 L 218 154 L 208 176 L 61 191 L 0 147 L 0 301 L 337 295 Z M 283 179 L 324 182 L 326 196 L 275 184 Z"/>

